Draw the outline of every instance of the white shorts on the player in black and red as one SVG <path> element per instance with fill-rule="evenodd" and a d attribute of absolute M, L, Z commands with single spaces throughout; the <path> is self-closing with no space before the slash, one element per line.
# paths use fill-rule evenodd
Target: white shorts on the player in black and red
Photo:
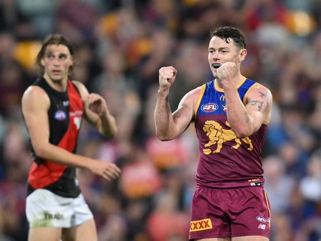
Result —
<path fill-rule="evenodd" d="M 46 189 L 37 189 L 27 197 L 29 226 L 70 228 L 93 218 L 83 195 L 64 198 Z"/>

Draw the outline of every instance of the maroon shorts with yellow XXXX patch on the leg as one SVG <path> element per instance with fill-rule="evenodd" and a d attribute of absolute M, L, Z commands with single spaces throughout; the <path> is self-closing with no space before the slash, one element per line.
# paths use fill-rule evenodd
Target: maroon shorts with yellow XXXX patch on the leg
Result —
<path fill-rule="evenodd" d="M 192 200 L 190 240 L 259 235 L 269 238 L 271 214 L 261 186 L 197 187 Z"/>

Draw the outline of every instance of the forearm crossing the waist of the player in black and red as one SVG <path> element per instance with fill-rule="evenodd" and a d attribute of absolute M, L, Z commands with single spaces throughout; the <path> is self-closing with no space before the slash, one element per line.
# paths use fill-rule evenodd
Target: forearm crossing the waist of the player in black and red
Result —
<path fill-rule="evenodd" d="M 62 165 L 88 168 L 91 159 L 73 154 L 63 148 L 50 143 L 34 147 L 36 155 L 42 159 L 53 161 Z"/>

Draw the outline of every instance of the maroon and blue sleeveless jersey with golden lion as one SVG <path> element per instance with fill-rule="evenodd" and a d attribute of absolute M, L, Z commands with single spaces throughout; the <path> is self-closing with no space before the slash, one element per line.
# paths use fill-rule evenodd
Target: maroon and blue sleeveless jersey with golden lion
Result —
<path fill-rule="evenodd" d="M 238 84 L 244 105 L 248 90 L 256 84 L 246 78 Z M 224 91 L 216 80 L 202 85 L 195 128 L 199 142 L 198 186 L 235 188 L 264 184 L 261 157 L 267 123 L 251 136 L 237 138 L 227 120 Z"/>

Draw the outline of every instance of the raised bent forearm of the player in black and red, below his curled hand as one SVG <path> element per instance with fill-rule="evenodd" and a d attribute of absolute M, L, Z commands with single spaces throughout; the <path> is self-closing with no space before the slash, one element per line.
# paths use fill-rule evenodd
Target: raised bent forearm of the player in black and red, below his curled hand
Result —
<path fill-rule="evenodd" d="M 98 131 L 105 137 L 114 137 L 117 133 L 117 125 L 115 118 L 107 110 L 105 113 L 99 115 Z"/>

